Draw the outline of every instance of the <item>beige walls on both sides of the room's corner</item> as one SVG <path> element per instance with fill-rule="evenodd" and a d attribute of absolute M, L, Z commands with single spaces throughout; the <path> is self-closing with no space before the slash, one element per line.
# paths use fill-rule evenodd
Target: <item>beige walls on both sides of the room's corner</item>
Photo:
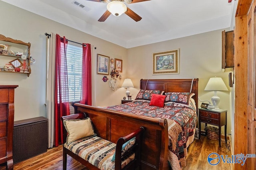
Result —
<path fill-rule="evenodd" d="M 27 12 L 0 1 L 1 19 L 0 34 L 13 39 L 31 43 L 31 56 L 36 63 L 31 66 L 32 74 L 0 73 L 0 84 L 17 84 L 15 92 L 15 120 L 46 116 L 46 36 L 47 33 L 58 33 L 60 36 L 80 43 L 90 43 L 93 49 L 93 97 L 95 106 L 120 104 L 125 96 L 125 88 L 112 91 L 108 82 L 103 82 L 103 74 L 96 74 L 96 56 L 102 54 L 110 58 L 123 60 L 122 80 L 131 78 L 132 98 L 139 90 L 141 78 L 199 78 L 199 97 L 210 100 L 214 92 L 204 88 L 210 77 L 220 76 L 228 87 L 228 72 L 221 73 L 221 31 L 212 31 L 180 39 L 125 49 L 113 43 L 93 37 L 52 20 Z M 226 31 L 228 31 L 226 29 Z M 180 49 L 180 74 L 152 75 L 153 53 Z M 108 75 L 110 79 L 111 76 Z M 228 87 L 229 88 L 229 87 Z M 230 88 L 229 88 L 230 89 Z M 228 109 L 228 133 L 230 133 L 230 95 L 229 92 L 218 92 L 221 98 L 219 107 Z M 201 102 L 199 103 L 200 106 Z M 224 132 L 222 133 L 224 134 Z"/>

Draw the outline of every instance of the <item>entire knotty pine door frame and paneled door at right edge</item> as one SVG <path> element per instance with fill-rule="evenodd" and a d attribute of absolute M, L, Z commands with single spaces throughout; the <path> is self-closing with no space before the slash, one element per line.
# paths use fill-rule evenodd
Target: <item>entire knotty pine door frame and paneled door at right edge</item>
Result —
<path fill-rule="evenodd" d="M 256 154 L 256 0 L 238 0 L 234 27 L 234 154 Z M 234 164 L 256 170 L 256 158 Z"/>

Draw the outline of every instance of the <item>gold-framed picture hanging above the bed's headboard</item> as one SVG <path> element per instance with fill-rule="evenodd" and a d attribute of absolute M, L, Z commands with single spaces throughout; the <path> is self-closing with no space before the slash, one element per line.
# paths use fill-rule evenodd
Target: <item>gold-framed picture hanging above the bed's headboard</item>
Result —
<path fill-rule="evenodd" d="M 153 74 L 179 74 L 179 49 L 153 54 Z"/>

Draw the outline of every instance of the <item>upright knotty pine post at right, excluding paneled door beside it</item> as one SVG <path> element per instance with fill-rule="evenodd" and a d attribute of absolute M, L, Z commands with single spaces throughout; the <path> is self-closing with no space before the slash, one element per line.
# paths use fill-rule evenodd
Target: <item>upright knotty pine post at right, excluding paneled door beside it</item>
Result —
<path fill-rule="evenodd" d="M 234 115 L 234 154 L 248 153 L 248 125 L 247 125 L 247 69 L 248 69 L 248 38 L 247 38 L 247 16 L 236 17 L 235 24 L 235 57 L 234 57 L 234 74 L 235 74 L 235 115 Z M 241 135 L 242 134 L 242 135 Z M 244 166 L 235 164 L 235 169 L 246 170 Z"/>

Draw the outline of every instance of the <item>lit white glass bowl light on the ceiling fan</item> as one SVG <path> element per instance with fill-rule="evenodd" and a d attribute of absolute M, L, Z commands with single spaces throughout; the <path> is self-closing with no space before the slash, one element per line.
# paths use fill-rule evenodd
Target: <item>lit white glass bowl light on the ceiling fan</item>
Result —
<path fill-rule="evenodd" d="M 120 16 L 127 11 L 126 5 L 120 1 L 109 2 L 107 5 L 107 9 L 114 16 Z"/>

